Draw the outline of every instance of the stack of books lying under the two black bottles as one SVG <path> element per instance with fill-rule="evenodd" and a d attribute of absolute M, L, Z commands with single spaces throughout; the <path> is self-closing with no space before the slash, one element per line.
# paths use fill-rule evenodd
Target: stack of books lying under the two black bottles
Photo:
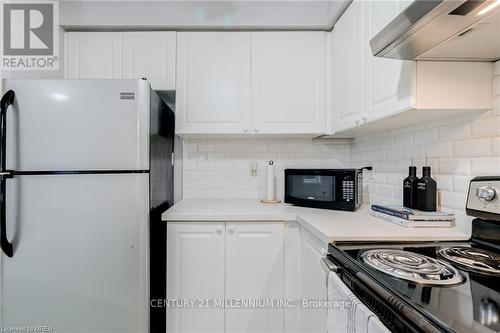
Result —
<path fill-rule="evenodd" d="M 399 205 L 372 205 L 373 216 L 404 227 L 452 227 L 455 215 L 447 212 L 424 212 Z"/>

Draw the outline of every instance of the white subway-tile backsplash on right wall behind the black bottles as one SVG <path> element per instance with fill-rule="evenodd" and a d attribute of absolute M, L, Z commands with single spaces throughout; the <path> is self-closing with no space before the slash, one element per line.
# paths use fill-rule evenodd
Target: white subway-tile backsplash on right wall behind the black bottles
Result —
<path fill-rule="evenodd" d="M 488 112 L 435 121 L 356 139 L 354 166 L 373 165 L 365 178 L 365 202 L 402 202 L 402 182 L 414 158 L 421 174 L 425 158 L 437 180 L 439 203 L 468 228 L 464 207 L 471 178 L 500 175 L 500 62 L 493 79 L 494 108 Z"/>

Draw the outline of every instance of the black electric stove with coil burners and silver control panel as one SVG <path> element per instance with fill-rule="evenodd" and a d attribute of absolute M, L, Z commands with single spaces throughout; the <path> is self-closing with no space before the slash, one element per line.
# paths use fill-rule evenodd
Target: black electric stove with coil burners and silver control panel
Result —
<path fill-rule="evenodd" d="M 327 258 L 393 332 L 500 332 L 499 189 L 500 177 L 471 181 L 469 241 L 335 243 Z"/>

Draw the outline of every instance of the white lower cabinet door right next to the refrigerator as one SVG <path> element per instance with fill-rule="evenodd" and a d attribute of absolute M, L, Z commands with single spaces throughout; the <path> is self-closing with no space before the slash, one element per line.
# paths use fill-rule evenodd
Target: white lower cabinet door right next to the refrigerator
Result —
<path fill-rule="evenodd" d="M 224 222 L 168 223 L 167 298 L 224 298 Z M 221 307 L 167 309 L 168 332 L 224 332 Z"/>

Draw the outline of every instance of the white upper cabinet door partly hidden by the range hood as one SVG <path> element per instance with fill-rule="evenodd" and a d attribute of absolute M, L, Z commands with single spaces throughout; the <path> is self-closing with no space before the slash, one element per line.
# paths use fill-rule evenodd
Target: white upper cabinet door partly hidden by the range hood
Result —
<path fill-rule="evenodd" d="M 373 56 L 370 40 L 392 21 L 407 1 L 359 1 L 363 8 L 362 72 L 365 83 L 361 118 L 372 121 L 412 108 L 413 61 Z"/>

